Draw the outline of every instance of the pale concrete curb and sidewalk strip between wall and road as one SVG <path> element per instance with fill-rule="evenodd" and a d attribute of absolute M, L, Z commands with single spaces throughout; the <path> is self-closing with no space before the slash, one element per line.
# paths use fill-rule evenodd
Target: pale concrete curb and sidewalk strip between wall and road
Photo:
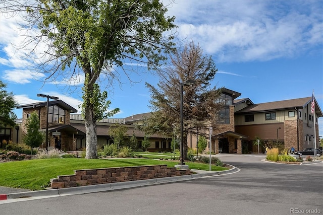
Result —
<path fill-rule="evenodd" d="M 58 189 L 46 189 L 46 190 L 37 190 L 37 191 L 26 191 L 24 189 L 0 187 L 0 204 L 8 203 L 11 199 L 22 199 L 22 200 L 31 200 L 32 198 L 49 198 L 62 195 L 77 195 L 93 192 L 106 192 L 114 191 L 119 189 L 128 189 L 141 186 L 150 186 L 163 183 L 173 183 L 179 181 L 193 180 L 197 178 L 202 178 L 206 176 L 216 176 L 224 174 L 232 174 L 238 172 L 239 169 L 234 167 L 230 170 L 213 172 L 213 171 L 204 171 L 204 170 L 194 170 L 196 174 L 185 175 L 185 176 L 174 176 L 174 177 L 165 177 L 165 178 L 156 178 L 148 180 L 137 180 L 137 181 L 127 181 L 127 182 L 118 182 L 118 183 L 107 183 L 107 184 L 97 184 L 97 185 L 88 185 L 88 186 L 79 186 L 79 187 L 69 187 L 69 188 L 58 188 Z M 17 191 L 17 192 L 14 192 Z"/>

